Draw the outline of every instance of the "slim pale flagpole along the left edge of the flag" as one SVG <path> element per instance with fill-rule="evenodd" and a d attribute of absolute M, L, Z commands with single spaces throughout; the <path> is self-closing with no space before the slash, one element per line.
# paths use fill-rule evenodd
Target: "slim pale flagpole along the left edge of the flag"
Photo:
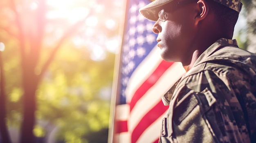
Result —
<path fill-rule="evenodd" d="M 116 110 L 116 105 L 117 102 L 119 101 L 119 96 L 121 95 L 121 67 L 122 67 L 122 46 L 124 44 L 124 33 L 125 33 L 125 27 L 127 24 L 127 11 L 129 7 L 129 0 L 126 0 L 124 2 L 123 7 L 125 7 L 124 17 L 121 18 L 120 20 L 120 29 L 119 29 L 119 35 L 122 36 L 122 42 L 120 44 L 120 48 L 116 52 L 116 57 L 115 57 L 115 67 L 114 67 L 114 73 L 113 73 L 113 84 L 112 84 L 112 95 L 111 95 L 111 101 L 110 101 L 110 117 L 109 117 L 109 128 L 108 128 L 108 143 L 118 143 L 115 141 L 114 136 L 115 136 L 115 110 Z"/>

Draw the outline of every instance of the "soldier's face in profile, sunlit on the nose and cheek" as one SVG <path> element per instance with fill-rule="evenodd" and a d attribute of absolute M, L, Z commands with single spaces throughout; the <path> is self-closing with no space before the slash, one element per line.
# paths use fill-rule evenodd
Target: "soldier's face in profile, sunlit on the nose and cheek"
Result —
<path fill-rule="evenodd" d="M 171 3 L 170 3 L 171 4 Z M 192 56 L 190 46 L 193 42 L 195 28 L 191 11 L 192 4 L 180 7 L 166 14 L 166 21 L 157 20 L 153 32 L 157 33 L 157 46 L 161 49 L 161 56 L 169 62 L 184 62 Z M 168 5 L 164 11 L 168 11 Z"/>

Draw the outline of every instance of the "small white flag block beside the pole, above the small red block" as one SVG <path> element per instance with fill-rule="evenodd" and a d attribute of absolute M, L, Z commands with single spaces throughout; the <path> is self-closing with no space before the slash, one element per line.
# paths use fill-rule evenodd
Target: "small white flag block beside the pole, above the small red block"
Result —
<path fill-rule="evenodd" d="M 116 120 L 127 121 L 130 115 L 130 106 L 128 104 L 117 105 L 115 112 Z"/>

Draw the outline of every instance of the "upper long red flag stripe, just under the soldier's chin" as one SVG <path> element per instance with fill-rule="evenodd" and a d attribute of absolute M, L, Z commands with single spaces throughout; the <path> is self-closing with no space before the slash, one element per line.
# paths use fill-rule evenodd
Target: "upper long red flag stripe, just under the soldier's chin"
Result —
<path fill-rule="evenodd" d="M 144 81 L 144 83 L 137 89 L 135 94 L 132 97 L 130 102 L 130 111 L 134 108 L 137 101 L 151 88 L 163 75 L 163 73 L 173 64 L 173 62 L 166 62 L 162 60 L 162 62 L 158 65 L 156 70 Z"/>

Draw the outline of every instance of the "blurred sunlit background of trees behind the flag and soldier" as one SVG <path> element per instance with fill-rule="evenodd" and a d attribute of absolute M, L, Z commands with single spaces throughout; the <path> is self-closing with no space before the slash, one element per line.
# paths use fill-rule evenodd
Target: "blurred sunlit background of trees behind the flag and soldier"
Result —
<path fill-rule="evenodd" d="M 107 143 L 125 3 L 0 1 L 2 143 L 31 134 L 36 143 Z M 234 35 L 241 48 L 247 27 L 243 10 Z"/>

